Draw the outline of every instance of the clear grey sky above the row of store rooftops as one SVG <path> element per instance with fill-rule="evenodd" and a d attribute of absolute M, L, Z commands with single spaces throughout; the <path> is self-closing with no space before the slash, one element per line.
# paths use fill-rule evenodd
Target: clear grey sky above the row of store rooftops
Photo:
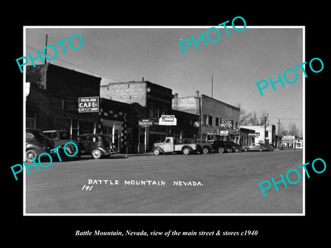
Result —
<path fill-rule="evenodd" d="M 217 26 L 217 25 L 214 25 Z M 303 63 L 303 29 L 301 27 L 250 27 L 237 32 L 231 25 L 230 36 L 223 27 L 218 27 L 221 37 L 211 43 L 206 37 L 210 26 L 186 27 L 26 27 L 26 54 L 37 57 L 48 45 L 57 48 L 54 65 L 77 70 L 101 77 L 101 85 L 122 81 L 141 81 L 142 79 L 169 87 L 172 93 L 192 96 L 197 90 L 200 94 L 211 96 L 213 77 L 213 97 L 219 101 L 241 107 L 246 112 L 268 112 L 270 124 L 281 125 L 288 130 L 290 123 L 303 129 L 303 72 L 296 65 Z M 237 26 L 242 28 L 242 26 Z M 197 42 L 195 48 L 192 37 L 201 39 L 202 32 L 207 45 Z M 79 34 L 83 46 L 74 50 L 68 40 L 72 34 Z M 208 33 L 216 41 L 218 33 L 212 29 Z M 60 44 L 63 41 L 67 54 Z M 183 54 L 179 41 L 190 39 L 190 47 Z M 72 37 L 72 45 L 79 46 L 78 37 Z M 183 45 L 187 45 L 187 41 Z M 49 57 L 54 56 L 52 47 L 48 48 Z M 40 64 L 40 59 L 34 61 Z M 31 65 L 31 62 L 28 62 Z M 295 83 L 286 83 L 285 70 L 292 68 L 298 74 Z M 18 69 L 19 70 L 19 69 Z M 306 70 L 308 70 L 306 68 Z M 275 83 L 259 93 L 257 82 L 279 80 L 280 74 L 285 87 Z M 295 74 L 286 74 L 288 81 L 294 81 Z M 262 85 L 262 84 L 261 84 Z M 278 132 L 278 131 L 277 131 Z"/>

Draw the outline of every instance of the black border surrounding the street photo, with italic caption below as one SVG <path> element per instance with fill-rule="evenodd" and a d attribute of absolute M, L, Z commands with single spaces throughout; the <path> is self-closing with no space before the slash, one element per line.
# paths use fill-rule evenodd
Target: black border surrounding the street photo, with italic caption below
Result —
<path fill-rule="evenodd" d="M 37 3 L 36 3 L 37 4 Z M 103 231 L 125 231 L 131 229 L 140 231 L 241 231 L 245 229 L 259 230 L 258 236 L 213 236 L 213 237 L 189 237 L 181 239 L 186 242 L 199 239 L 215 241 L 257 241 L 263 240 L 264 245 L 288 244 L 293 241 L 300 245 L 307 240 L 326 240 L 328 223 L 323 225 L 323 220 L 328 216 L 328 191 L 327 178 L 330 169 L 327 167 L 323 174 L 312 174 L 311 178 L 305 178 L 305 210 L 306 216 L 23 216 L 23 177 L 14 181 L 10 166 L 21 163 L 23 149 L 22 106 L 23 90 L 21 82 L 22 74 L 17 70 L 15 59 L 23 54 L 23 25 L 218 25 L 226 20 L 241 16 L 245 18 L 247 25 L 305 25 L 305 61 L 319 57 L 324 63 L 324 70 L 314 74 L 307 70 L 308 78 L 305 79 L 305 158 L 312 163 L 315 158 L 326 159 L 328 143 L 323 139 L 328 138 L 328 106 L 326 99 L 328 94 L 328 17 L 325 10 L 328 5 L 306 5 L 298 2 L 295 6 L 288 3 L 267 3 L 266 6 L 250 4 L 241 6 L 240 3 L 209 3 L 208 6 L 194 6 L 196 3 L 176 3 L 166 7 L 165 3 L 153 4 L 154 6 L 142 6 L 139 8 L 130 6 L 112 6 L 105 3 L 104 6 L 67 6 L 60 3 L 46 4 L 36 8 L 34 3 L 25 3 L 24 6 L 14 8 L 14 20 L 3 18 L 6 41 L 3 50 L 6 52 L 6 61 L 3 81 L 6 94 L 10 100 L 3 104 L 5 110 L 3 121 L 6 122 L 6 155 L 4 162 L 3 192 L 5 200 L 3 205 L 6 211 L 5 238 L 12 242 L 20 238 L 23 242 L 29 242 L 34 238 L 47 238 L 48 243 L 78 244 L 88 241 L 107 242 L 114 245 L 114 240 L 125 242 L 128 240 L 149 242 L 159 238 L 114 238 L 114 237 L 77 237 L 74 233 L 77 229 Z M 78 4 L 78 3 L 77 3 Z M 86 3 L 79 3 L 86 5 Z M 150 3 L 152 4 L 152 3 Z M 90 5 L 90 3 L 89 3 Z M 188 6 L 190 5 L 190 6 Z M 273 6 L 274 5 L 274 6 Z M 19 7 L 19 8 L 18 8 Z M 62 13 L 62 14 L 61 14 Z M 6 20 L 5 20 L 6 19 Z M 329 51 L 329 50 L 328 50 Z M 7 93 L 8 92 L 8 93 Z M 3 92 L 4 93 L 4 92 Z M 322 134 L 323 133 L 323 134 Z M 7 149 L 7 146 L 10 149 Z M 6 147 L 6 148 L 5 148 Z M 9 154 L 8 154 L 9 150 Z M 9 156 L 8 156 L 9 155 Z M 330 165 L 328 165 L 330 166 Z M 8 182 L 8 183 L 7 183 Z M 326 226 L 326 227 L 325 227 Z M 179 238 L 161 238 L 177 241 Z M 38 242 L 40 242 L 39 240 Z M 41 243 L 42 244 L 42 243 Z M 121 243 L 122 244 L 122 243 Z M 219 243 L 215 243 L 219 244 Z M 45 245 L 45 243 L 44 243 Z"/>

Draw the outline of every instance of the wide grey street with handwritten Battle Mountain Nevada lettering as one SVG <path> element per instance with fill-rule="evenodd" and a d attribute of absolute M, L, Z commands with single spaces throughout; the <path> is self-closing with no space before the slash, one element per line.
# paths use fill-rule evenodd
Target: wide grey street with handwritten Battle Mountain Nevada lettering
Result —
<path fill-rule="evenodd" d="M 283 150 L 53 162 L 26 174 L 26 214 L 302 214 L 302 158 Z M 279 183 L 279 192 L 272 185 L 263 197 L 259 183 L 289 169 L 301 172 L 300 182 Z M 201 185 L 183 185 L 189 181 Z"/>

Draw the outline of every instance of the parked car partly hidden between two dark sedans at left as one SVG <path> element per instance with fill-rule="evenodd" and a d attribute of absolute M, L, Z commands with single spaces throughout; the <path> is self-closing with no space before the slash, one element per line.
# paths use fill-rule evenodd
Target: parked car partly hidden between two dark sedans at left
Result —
<path fill-rule="evenodd" d="M 48 138 L 52 139 L 55 147 L 61 146 L 61 148 L 59 149 L 59 154 L 60 154 L 61 158 L 66 158 L 67 156 L 63 151 L 64 145 L 66 145 L 66 143 L 69 141 L 74 142 L 70 139 L 70 133 L 66 130 L 46 130 L 46 131 L 43 131 L 43 134 L 48 136 Z M 77 147 L 78 147 L 78 145 L 77 145 Z M 70 154 L 70 155 L 75 154 L 77 152 L 76 147 L 74 147 L 74 145 L 69 143 L 68 145 L 66 145 L 66 152 L 67 152 L 67 154 Z M 78 151 L 77 156 L 80 156 L 80 155 L 81 155 L 81 152 Z"/>

